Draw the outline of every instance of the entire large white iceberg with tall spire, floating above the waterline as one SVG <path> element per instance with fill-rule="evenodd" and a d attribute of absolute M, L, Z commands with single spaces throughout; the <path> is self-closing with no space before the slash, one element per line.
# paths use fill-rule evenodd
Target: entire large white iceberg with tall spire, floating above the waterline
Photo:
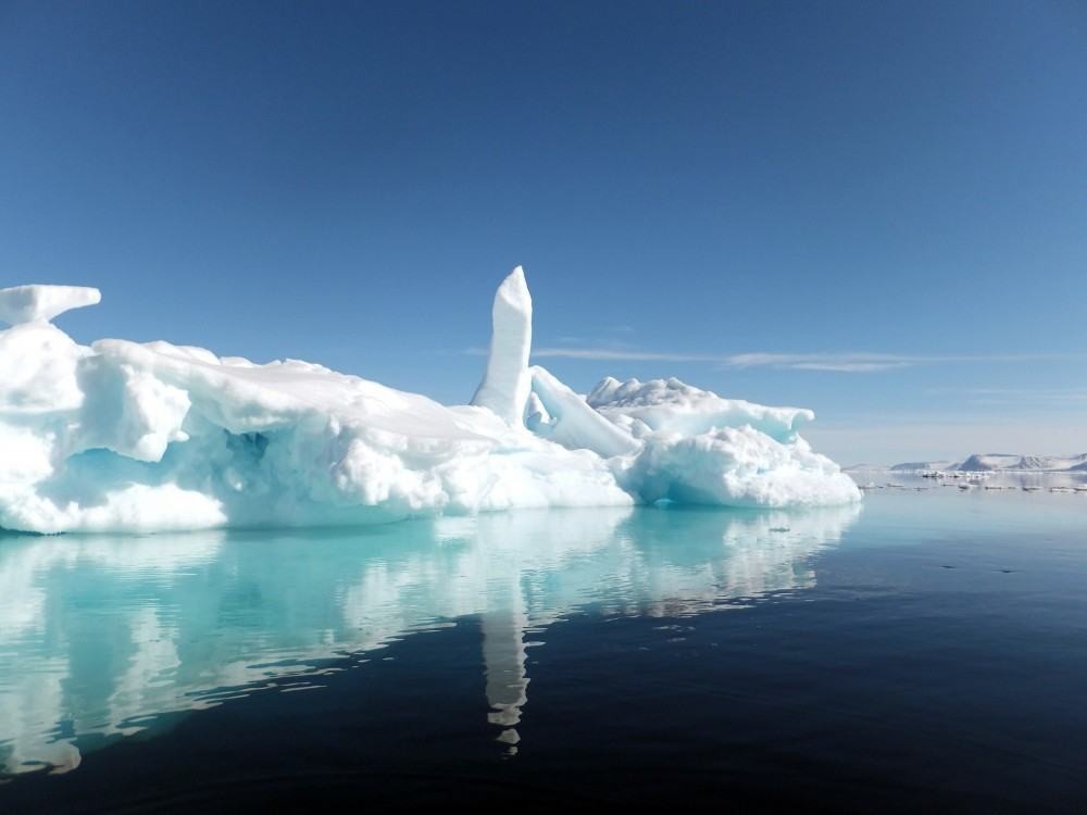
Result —
<path fill-rule="evenodd" d="M 484 380 L 446 406 L 322 365 L 168 342 L 76 343 L 50 322 L 97 289 L 0 290 L 0 527 L 343 525 L 514 507 L 855 501 L 797 434 L 811 411 L 677 379 L 585 399 L 529 366 L 532 298 L 499 287 Z"/>

